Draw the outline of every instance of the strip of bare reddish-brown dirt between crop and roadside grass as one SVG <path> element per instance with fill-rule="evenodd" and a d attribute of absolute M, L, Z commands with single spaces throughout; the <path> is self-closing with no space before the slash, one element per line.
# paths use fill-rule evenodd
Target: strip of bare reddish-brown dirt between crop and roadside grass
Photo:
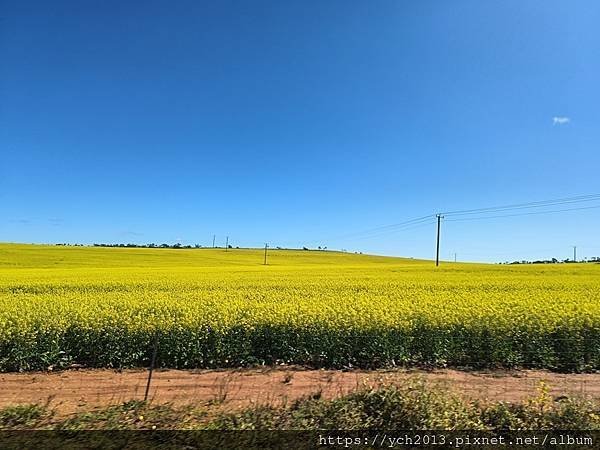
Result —
<path fill-rule="evenodd" d="M 92 410 L 128 400 L 143 399 L 146 370 L 69 370 L 0 374 L 0 408 L 49 402 L 58 413 Z M 298 367 L 237 370 L 157 370 L 150 398 L 175 405 L 206 402 L 238 408 L 277 404 L 321 392 L 333 398 L 365 385 L 402 385 L 420 377 L 469 399 L 518 402 L 536 395 L 545 381 L 554 396 L 600 398 L 600 374 L 558 374 L 545 371 L 457 370 L 306 370 Z"/>

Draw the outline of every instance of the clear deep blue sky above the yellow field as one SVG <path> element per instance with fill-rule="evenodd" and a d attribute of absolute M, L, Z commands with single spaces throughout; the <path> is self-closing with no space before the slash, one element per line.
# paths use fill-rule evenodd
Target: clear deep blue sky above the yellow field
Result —
<path fill-rule="evenodd" d="M 433 226 L 336 237 L 600 192 L 599 23 L 596 0 L 2 0 L 0 241 L 432 258 Z M 442 257 L 600 255 L 599 219 L 447 222 Z"/>

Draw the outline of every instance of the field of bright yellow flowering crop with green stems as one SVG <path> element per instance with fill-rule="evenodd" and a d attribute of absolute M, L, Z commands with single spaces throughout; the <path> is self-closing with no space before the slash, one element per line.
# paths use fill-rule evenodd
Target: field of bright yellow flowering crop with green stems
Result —
<path fill-rule="evenodd" d="M 0 370 L 600 369 L 600 265 L 0 245 Z"/>

